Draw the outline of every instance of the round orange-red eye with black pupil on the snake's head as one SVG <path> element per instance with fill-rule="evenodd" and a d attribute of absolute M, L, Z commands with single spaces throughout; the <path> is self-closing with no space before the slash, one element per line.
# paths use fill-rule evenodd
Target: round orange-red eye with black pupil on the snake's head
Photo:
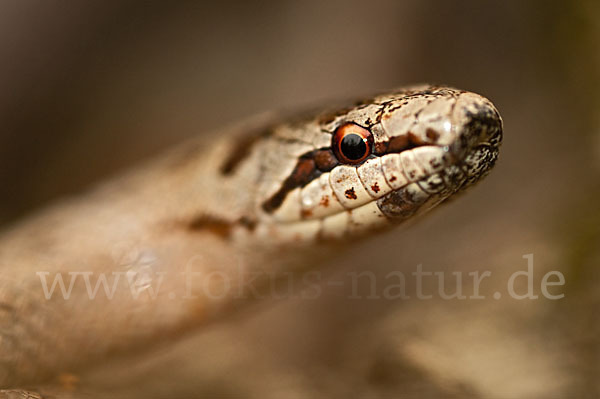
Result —
<path fill-rule="evenodd" d="M 373 135 L 355 123 L 345 123 L 333 133 L 333 153 L 342 163 L 356 164 L 371 154 Z"/>

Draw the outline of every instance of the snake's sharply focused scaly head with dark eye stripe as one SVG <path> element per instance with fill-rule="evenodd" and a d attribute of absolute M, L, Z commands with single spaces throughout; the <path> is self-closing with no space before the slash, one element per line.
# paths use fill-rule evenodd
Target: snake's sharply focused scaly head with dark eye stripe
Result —
<path fill-rule="evenodd" d="M 339 238 L 426 212 L 494 166 L 502 120 L 486 98 L 418 86 L 276 128 L 262 160 L 262 235 Z M 273 185 L 271 182 L 276 181 Z"/>

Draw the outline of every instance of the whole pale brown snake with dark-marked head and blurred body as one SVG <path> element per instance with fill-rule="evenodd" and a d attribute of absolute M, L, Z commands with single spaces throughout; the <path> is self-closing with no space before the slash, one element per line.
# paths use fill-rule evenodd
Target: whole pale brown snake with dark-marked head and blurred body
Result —
<path fill-rule="evenodd" d="M 0 398 L 67 389 L 249 300 L 259 273 L 425 214 L 489 173 L 502 131 L 483 96 L 409 86 L 250 118 L 38 211 L 0 236 Z"/>

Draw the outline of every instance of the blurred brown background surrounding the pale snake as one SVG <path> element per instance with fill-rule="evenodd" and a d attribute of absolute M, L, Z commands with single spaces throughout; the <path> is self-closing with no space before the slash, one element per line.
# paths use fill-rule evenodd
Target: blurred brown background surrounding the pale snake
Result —
<path fill-rule="evenodd" d="M 487 299 L 350 300 L 323 282 L 318 299 L 262 301 L 69 383 L 123 398 L 600 397 L 599 21 L 592 0 L 1 2 L 2 224 L 265 110 L 430 82 L 504 118 L 481 185 L 326 268 L 489 270 Z M 565 298 L 492 299 L 529 253 L 537 293 L 559 270 Z"/>

